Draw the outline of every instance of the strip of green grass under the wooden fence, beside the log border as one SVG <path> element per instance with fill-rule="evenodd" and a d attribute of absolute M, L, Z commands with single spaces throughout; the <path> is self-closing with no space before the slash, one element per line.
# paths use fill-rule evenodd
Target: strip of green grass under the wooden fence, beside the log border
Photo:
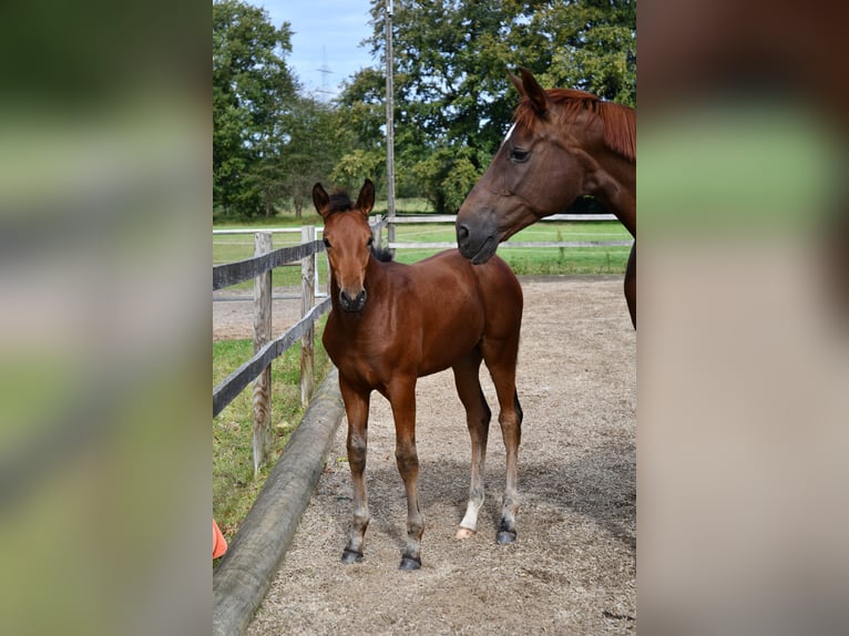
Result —
<path fill-rule="evenodd" d="M 324 320 L 316 327 L 315 387 L 330 367 L 320 346 Z M 213 342 L 213 387 L 253 356 L 252 340 Z M 291 347 L 272 363 L 272 427 L 275 450 L 272 463 L 304 416 L 300 406 L 300 346 Z M 213 516 L 225 537 L 233 538 L 259 493 L 270 466 L 254 478 L 253 382 L 213 418 Z"/>

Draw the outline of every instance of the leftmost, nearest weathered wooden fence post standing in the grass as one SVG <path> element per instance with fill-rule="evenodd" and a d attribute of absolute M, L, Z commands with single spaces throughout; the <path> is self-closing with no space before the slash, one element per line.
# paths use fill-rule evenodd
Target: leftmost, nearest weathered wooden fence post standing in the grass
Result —
<path fill-rule="evenodd" d="M 254 235 L 254 255 L 272 252 L 272 233 Z M 254 279 L 254 353 L 272 340 L 272 271 Z M 272 454 L 272 366 L 254 380 L 254 476 Z"/>

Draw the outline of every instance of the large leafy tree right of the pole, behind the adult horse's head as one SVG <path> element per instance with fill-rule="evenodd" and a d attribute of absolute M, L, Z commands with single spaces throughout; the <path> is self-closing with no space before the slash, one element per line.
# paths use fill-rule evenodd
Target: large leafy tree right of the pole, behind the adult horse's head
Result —
<path fill-rule="evenodd" d="M 372 53 L 386 3 L 372 0 Z M 518 101 L 507 70 L 634 105 L 633 0 L 396 0 L 396 156 L 439 212 L 456 212 L 498 150 Z"/>

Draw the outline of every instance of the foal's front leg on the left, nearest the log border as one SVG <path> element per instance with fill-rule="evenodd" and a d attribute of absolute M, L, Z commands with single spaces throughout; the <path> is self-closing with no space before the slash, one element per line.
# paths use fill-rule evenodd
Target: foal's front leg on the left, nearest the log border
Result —
<path fill-rule="evenodd" d="M 370 391 L 352 389 L 339 377 L 339 389 L 348 416 L 348 465 L 354 485 L 354 520 L 348 532 L 348 543 L 342 551 L 342 563 L 362 561 L 362 542 L 368 527 L 368 493 L 366 492 L 366 450 L 368 448 L 368 407 Z"/>

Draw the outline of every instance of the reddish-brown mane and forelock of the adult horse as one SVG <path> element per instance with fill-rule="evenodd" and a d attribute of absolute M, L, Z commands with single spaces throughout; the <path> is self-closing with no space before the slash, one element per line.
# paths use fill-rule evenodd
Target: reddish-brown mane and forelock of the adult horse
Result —
<path fill-rule="evenodd" d="M 604 145 L 628 161 L 636 161 L 636 111 L 634 109 L 605 102 L 592 93 L 573 89 L 549 89 L 545 93 L 552 103 L 561 106 L 560 116 L 564 121 L 574 121 L 582 112 L 590 112 L 601 119 L 604 126 Z M 522 98 L 513 120 L 533 130 L 536 119 L 531 101 Z"/>

